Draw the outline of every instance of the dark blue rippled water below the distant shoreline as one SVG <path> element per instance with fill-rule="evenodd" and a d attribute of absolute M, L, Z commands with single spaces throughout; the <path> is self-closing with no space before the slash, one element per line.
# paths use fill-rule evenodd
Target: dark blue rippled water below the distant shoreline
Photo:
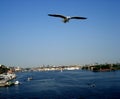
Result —
<path fill-rule="evenodd" d="M 120 71 L 24 72 L 16 80 L 0 87 L 0 99 L 120 99 Z"/>

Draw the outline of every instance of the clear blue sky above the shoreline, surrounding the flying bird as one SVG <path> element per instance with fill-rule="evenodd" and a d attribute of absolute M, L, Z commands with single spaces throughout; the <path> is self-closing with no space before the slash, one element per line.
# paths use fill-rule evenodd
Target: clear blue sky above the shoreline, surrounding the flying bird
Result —
<path fill-rule="evenodd" d="M 120 62 L 119 0 L 0 0 L 0 64 Z M 70 20 L 48 14 L 82 16 Z"/>

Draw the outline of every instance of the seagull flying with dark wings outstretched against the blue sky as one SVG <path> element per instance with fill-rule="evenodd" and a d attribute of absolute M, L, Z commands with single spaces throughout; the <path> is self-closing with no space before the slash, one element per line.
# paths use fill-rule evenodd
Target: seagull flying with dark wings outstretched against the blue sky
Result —
<path fill-rule="evenodd" d="M 63 16 L 63 15 L 59 15 L 59 14 L 48 14 L 48 16 L 53 16 L 53 17 L 60 17 L 63 18 L 63 22 L 69 22 L 70 19 L 87 19 L 85 17 L 79 17 L 79 16 Z"/>

